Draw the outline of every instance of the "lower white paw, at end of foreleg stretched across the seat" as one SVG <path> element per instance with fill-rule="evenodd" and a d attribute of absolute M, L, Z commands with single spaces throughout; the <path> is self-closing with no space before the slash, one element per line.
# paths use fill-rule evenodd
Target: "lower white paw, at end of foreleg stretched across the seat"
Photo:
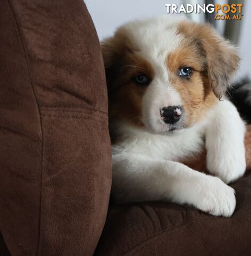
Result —
<path fill-rule="evenodd" d="M 236 206 L 235 190 L 217 177 L 207 176 L 199 185 L 195 206 L 215 216 L 229 217 Z"/>

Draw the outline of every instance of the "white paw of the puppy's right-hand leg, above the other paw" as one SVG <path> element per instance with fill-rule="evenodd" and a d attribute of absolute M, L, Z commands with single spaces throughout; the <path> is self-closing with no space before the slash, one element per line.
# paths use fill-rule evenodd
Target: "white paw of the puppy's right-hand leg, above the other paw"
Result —
<path fill-rule="evenodd" d="M 225 183 L 230 183 L 240 178 L 246 171 L 245 151 L 236 150 L 228 154 L 207 153 L 207 170 L 219 177 Z"/>

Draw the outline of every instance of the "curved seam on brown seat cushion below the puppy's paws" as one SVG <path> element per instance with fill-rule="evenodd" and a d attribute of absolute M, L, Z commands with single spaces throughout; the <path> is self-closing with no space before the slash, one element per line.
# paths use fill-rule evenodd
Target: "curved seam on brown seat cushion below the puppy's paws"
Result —
<path fill-rule="evenodd" d="M 156 242 L 156 241 L 159 241 L 159 240 L 164 239 L 165 237 L 162 236 L 163 234 L 164 234 L 164 235 L 165 235 L 165 234 L 172 234 L 172 233 L 174 233 L 175 231 L 177 231 L 177 230 L 180 229 L 180 228 L 186 227 L 186 226 L 191 225 L 191 224 L 195 224 L 196 221 L 194 221 L 194 220 L 198 220 L 198 219 L 200 219 L 200 220 L 206 219 L 205 221 L 203 221 L 203 223 L 205 223 L 205 222 L 210 222 L 210 221 L 212 221 L 212 222 L 215 221 L 215 220 L 213 220 L 213 219 L 208 219 L 208 218 L 196 218 L 196 219 L 193 219 L 193 221 L 189 221 L 188 223 L 186 223 L 186 224 L 184 224 L 184 225 L 180 225 L 180 226 L 175 227 L 174 230 L 173 230 L 173 229 L 172 229 L 172 230 L 170 230 L 170 229 L 164 230 L 163 232 L 158 233 L 158 234 L 156 234 L 155 236 L 150 237 L 149 239 L 146 239 L 145 241 L 143 241 L 143 242 L 140 243 L 140 244 L 146 243 L 143 247 L 140 247 L 137 251 L 135 251 L 135 252 L 133 252 L 132 254 L 130 254 L 134 249 L 136 249 L 136 247 L 140 246 L 140 244 L 138 244 L 138 245 L 132 247 L 131 249 L 129 249 L 129 251 L 125 252 L 123 255 L 124 255 L 124 256 L 126 256 L 126 255 L 131 255 L 131 256 L 133 256 L 133 255 L 135 255 L 137 252 L 139 252 L 140 250 L 143 250 L 146 246 L 148 246 L 148 245 L 150 245 L 150 244 L 153 244 L 153 243 Z M 215 222 L 222 222 L 222 221 L 223 221 L 223 220 L 220 219 L 220 220 L 217 220 L 217 221 L 215 221 Z M 225 219 L 224 222 L 229 222 L 229 221 L 230 221 L 230 219 Z M 156 237 L 158 237 L 158 236 L 161 236 L 161 237 L 156 238 Z"/>

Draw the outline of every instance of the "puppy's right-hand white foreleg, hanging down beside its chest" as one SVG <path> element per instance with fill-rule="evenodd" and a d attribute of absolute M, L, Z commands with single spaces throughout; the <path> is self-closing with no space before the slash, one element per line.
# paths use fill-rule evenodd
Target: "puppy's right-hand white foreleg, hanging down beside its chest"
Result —
<path fill-rule="evenodd" d="M 207 169 L 229 183 L 246 170 L 245 124 L 228 100 L 219 102 L 206 129 Z"/>

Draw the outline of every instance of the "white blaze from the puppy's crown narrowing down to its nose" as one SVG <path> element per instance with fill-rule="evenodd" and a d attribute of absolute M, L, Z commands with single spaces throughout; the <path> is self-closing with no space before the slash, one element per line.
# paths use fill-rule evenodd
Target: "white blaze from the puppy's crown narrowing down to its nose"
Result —
<path fill-rule="evenodd" d="M 151 84 L 158 93 L 162 107 L 179 105 L 179 93 L 170 82 L 166 60 L 168 55 L 179 49 L 183 35 L 177 33 L 178 25 L 184 17 L 170 16 L 150 18 L 129 22 L 125 25 L 133 46 L 138 49 L 136 54 L 147 60 L 154 70 Z"/>

